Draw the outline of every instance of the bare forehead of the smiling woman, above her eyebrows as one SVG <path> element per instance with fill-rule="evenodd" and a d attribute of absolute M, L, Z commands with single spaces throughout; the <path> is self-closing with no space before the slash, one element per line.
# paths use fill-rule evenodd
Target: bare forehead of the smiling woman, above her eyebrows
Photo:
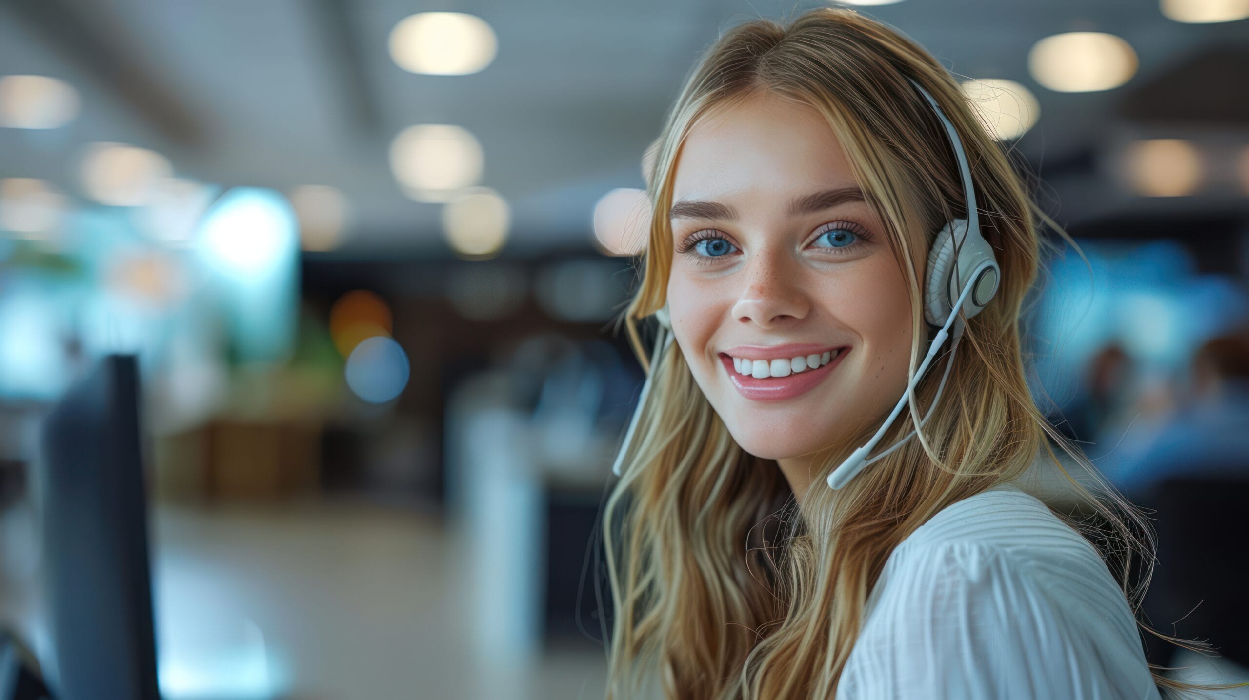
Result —
<path fill-rule="evenodd" d="M 673 201 L 853 186 L 851 162 L 813 107 L 761 94 L 702 116 L 676 163 Z"/>

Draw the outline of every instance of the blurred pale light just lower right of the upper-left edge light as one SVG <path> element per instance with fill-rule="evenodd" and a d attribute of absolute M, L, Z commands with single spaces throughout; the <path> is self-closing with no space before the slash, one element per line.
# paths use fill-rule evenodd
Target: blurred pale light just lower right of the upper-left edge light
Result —
<path fill-rule="evenodd" d="M 91 143 L 81 162 L 84 191 L 101 205 L 115 207 L 151 203 L 160 182 L 172 176 L 165 156 L 127 143 Z"/>

